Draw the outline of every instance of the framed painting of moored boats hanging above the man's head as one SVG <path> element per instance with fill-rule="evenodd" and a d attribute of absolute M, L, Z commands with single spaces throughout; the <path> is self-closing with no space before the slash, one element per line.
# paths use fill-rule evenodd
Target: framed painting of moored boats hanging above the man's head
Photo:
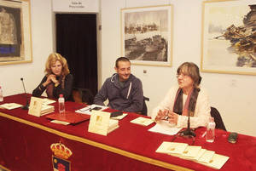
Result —
<path fill-rule="evenodd" d="M 131 63 L 172 66 L 172 5 L 121 9 L 121 54 Z"/>

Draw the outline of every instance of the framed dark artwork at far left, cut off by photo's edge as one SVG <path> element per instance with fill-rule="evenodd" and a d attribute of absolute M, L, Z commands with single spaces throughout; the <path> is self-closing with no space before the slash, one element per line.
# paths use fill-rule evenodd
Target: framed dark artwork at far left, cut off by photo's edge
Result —
<path fill-rule="evenodd" d="M 30 0 L 0 1 L 0 65 L 32 62 Z"/>

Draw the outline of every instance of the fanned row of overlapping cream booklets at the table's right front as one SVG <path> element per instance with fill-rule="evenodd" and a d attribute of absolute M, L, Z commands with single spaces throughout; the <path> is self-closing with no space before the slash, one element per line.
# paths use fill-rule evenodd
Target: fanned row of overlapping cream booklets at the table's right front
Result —
<path fill-rule="evenodd" d="M 201 146 L 166 141 L 159 146 L 156 152 L 166 153 L 175 157 L 198 162 L 215 169 L 222 168 L 224 163 L 230 158 L 219 155 L 215 153 L 215 151 L 202 149 Z"/>

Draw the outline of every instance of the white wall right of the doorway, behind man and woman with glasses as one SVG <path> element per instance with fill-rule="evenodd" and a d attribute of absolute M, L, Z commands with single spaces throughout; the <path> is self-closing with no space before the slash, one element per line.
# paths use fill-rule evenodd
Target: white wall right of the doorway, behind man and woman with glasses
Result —
<path fill-rule="evenodd" d="M 134 75 L 143 82 L 144 95 L 150 98 L 148 111 L 163 99 L 176 80 L 176 70 L 184 61 L 201 62 L 201 0 L 102 0 L 102 80 L 114 72 L 114 61 L 121 55 L 120 9 L 154 5 L 173 5 L 172 67 L 135 66 Z M 143 70 L 148 73 L 143 74 Z M 229 131 L 256 136 L 256 77 L 201 73 L 201 86 L 208 89 L 210 103 L 221 113 Z M 101 85 L 100 85 L 101 86 Z"/>

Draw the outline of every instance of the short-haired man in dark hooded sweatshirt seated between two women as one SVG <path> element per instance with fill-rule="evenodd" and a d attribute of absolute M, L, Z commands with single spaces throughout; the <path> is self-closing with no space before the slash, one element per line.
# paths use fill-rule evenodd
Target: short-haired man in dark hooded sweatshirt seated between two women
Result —
<path fill-rule="evenodd" d="M 96 105 L 108 106 L 119 111 L 140 112 L 143 110 L 143 84 L 141 80 L 131 74 L 131 61 L 119 57 L 115 61 L 112 77 L 108 77 L 100 91 L 94 98 Z"/>

